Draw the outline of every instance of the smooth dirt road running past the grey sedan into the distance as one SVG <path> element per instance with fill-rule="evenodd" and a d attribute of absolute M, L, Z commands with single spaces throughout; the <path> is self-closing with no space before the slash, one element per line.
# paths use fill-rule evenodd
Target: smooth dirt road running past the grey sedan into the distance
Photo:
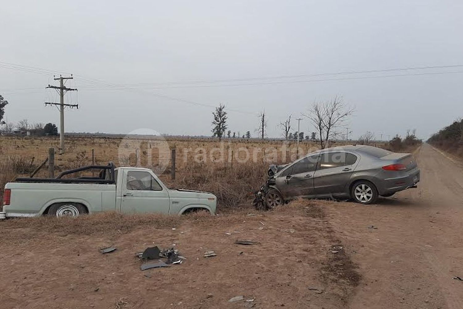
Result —
<path fill-rule="evenodd" d="M 427 144 L 415 157 L 418 189 L 325 208 L 363 274 L 351 309 L 463 308 L 463 169 Z"/>

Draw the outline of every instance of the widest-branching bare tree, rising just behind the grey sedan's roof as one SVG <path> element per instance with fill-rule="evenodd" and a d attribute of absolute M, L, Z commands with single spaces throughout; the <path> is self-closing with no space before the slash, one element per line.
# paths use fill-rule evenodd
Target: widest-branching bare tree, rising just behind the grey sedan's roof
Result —
<path fill-rule="evenodd" d="M 324 149 L 354 111 L 353 107 L 344 106 L 342 98 L 335 96 L 331 101 L 314 102 L 308 113 L 302 115 L 312 121 L 319 133 L 320 147 Z"/>

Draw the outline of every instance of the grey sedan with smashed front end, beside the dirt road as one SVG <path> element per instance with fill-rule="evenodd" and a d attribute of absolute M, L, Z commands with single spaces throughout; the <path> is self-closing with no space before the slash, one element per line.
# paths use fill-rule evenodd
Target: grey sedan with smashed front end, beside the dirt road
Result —
<path fill-rule="evenodd" d="M 416 188 L 419 168 L 410 153 L 366 145 L 327 148 L 293 163 L 271 165 L 256 193 L 257 208 L 273 208 L 294 198 L 350 198 L 362 204 L 378 196 Z"/>

